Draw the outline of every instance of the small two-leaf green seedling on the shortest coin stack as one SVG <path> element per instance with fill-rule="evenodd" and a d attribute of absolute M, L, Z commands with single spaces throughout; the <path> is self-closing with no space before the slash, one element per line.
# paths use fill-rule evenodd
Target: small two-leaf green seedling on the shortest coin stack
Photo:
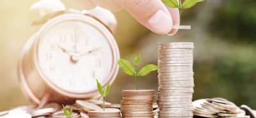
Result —
<path fill-rule="evenodd" d="M 102 89 L 100 82 L 97 80 L 97 87 L 98 87 L 98 91 L 99 91 L 100 95 L 103 98 L 103 111 L 105 111 L 105 98 L 106 98 L 106 96 L 108 96 L 108 93 L 109 93 L 109 82 L 108 82 L 107 87 L 105 87 L 105 89 Z"/>

